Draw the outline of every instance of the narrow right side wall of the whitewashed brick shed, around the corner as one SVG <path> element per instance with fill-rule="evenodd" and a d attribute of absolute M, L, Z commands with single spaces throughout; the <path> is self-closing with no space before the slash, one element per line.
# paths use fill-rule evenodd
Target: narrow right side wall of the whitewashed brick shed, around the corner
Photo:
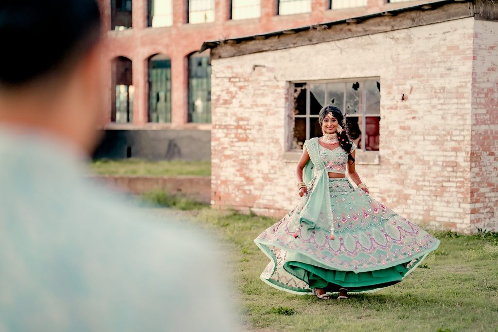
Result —
<path fill-rule="evenodd" d="M 471 223 L 498 229 L 498 22 L 476 20 L 472 71 Z"/>

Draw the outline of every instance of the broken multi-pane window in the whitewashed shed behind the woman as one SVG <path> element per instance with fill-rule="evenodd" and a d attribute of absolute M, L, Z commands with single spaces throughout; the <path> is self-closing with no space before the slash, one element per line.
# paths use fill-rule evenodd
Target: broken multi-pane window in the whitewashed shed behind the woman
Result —
<path fill-rule="evenodd" d="M 302 149 L 304 141 L 322 136 L 318 114 L 326 105 L 346 114 L 348 135 L 359 149 L 378 151 L 380 83 L 378 79 L 293 84 L 292 138 L 290 149 Z"/>

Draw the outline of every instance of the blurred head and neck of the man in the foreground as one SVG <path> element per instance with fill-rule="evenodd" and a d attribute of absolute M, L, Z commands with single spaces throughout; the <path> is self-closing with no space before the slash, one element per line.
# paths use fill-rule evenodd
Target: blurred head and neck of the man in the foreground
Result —
<path fill-rule="evenodd" d="M 0 125 L 89 150 L 101 114 L 96 0 L 0 1 Z"/>

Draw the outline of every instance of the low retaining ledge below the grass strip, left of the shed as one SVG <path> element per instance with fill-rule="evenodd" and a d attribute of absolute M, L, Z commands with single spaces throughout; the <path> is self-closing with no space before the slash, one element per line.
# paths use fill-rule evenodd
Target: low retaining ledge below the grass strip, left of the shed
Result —
<path fill-rule="evenodd" d="M 196 202 L 209 204 L 211 201 L 210 176 L 94 175 L 92 178 L 106 182 L 111 187 L 130 194 L 164 190 L 171 195 L 181 195 Z"/>

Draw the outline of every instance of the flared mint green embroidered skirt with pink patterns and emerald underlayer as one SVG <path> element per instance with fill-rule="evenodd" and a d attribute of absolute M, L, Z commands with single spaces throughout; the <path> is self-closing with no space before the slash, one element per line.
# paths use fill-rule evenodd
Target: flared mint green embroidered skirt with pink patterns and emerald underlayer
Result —
<path fill-rule="evenodd" d="M 260 278 L 295 294 L 312 288 L 367 293 L 403 280 L 440 241 L 399 216 L 346 178 L 329 179 L 335 239 L 299 227 L 298 204 L 254 240 L 270 258 Z M 294 217 L 294 218 L 293 218 Z M 299 236 L 292 234 L 300 229 Z"/>

